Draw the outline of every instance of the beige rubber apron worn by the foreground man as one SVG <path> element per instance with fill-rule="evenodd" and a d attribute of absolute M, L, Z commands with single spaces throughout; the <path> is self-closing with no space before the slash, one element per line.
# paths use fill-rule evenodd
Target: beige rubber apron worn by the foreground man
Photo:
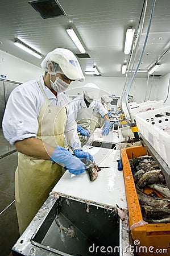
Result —
<path fill-rule="evenodd" d="M 38 84 L 45 97 L 46 105 L 40 109 L 37 138 L 53 147 L 57 144 L 63 146 L 66 109 L 50 106 L 40 81 Z M 63 167 L 55 162 L 18 153 L 18 167 L 15 171 L 15 203 L 20 234 L 42 207 L 62 174 Z"/>

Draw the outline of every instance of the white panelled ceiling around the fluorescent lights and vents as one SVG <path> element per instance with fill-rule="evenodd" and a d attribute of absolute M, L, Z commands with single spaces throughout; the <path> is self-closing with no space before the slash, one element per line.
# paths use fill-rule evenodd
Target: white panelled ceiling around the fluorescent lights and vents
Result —
<path fill-rule="evenodd" d="M 146 38 L 152 0 L 147 1 L 142 31 L 143 15 L 140 23 L 139 20 L 144 0 L 59 0 L 66 15 L 47 19 L 43 19 L 28 2 L 29 0 L 1 0 L 2 51 L 38 67 L 42 60 L 16 47 L 14 38 L 19 38 L 43 56 L 57 47 L 80 53 L 65 31 L 72 26 L 76 28 L 84 42 L 86 53 L 90 56 L 78 58 L 83 71 L 96 64 L 103 77 L 125 77 L 121 73 L 123 63 L 130 63 L 129 68 L 133 64 L 134 69 L 137 67 Z M 132 55 L 125 55 L 123 52 L 128 27 L 134 27 L 135 31 L 138 29 Z M 164 76 L 169 73 L 169 47 L 170 1 L 156 0 L 150 34 L 139 69 L 148 71 L 159 60 L 161 65 L 154 75 Z M 136 77 L 148 77 L 148 73 L 137 73 Z"/>

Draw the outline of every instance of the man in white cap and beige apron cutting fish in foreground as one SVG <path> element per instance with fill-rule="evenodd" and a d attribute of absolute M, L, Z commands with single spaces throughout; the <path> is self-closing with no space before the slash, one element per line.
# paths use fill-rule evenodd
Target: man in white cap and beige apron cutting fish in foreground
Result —
<path fill-rule="evenodd" d="M 72 81 L 84 81 L 76 56 L 56 48 L 41 66 L 45 73 L 39 80 L 24 82 L 11 92 L 2 123 L 5 138 L 18 151 L 15 204 L 20 234 L 63 175 L 63 166 L 78 175 L 85 171 L 80 158 L 93 161 L 81 149 L 69 99 L 63 93 Z M 75 156 L 63 148 L 64 137 Z"/>

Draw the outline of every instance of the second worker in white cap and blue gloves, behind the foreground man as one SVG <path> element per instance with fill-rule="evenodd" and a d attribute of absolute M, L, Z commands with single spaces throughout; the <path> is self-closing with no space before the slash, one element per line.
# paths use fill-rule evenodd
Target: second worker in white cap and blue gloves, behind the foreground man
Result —
<path fill-rule="evenodd" d="M 96 84 L 89 82 L 88 84 L 84 85 L 83 93 L 74 98 L 74 100 L 71 102 L 74 119 L 77 123 L 77 131 L 80 132 L 79 138 L 81 145 L 88 141 L 90 131 L 92 132 L 92 130 L 90 130 L 90 122 L 92 115 L 95 113 L 100 113 L 105 120 L 102 134 L 109 134 L 110 122 L 107 114 L 108 112 L 105 108 L 103 108 L 100 101 L 95 100 L 99 97 L 99 92 L 99 87 Z"/>

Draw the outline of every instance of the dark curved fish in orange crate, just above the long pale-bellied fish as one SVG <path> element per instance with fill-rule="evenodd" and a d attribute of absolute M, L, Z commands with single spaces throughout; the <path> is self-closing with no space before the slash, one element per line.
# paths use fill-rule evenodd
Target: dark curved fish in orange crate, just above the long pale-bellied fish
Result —
<path fill-rule="evenodd" d="M 164 175 L 161 170 L 148 171 L 138 181 L 138 187 L 143 188 L 152 183 L 164 183 Z"/>

